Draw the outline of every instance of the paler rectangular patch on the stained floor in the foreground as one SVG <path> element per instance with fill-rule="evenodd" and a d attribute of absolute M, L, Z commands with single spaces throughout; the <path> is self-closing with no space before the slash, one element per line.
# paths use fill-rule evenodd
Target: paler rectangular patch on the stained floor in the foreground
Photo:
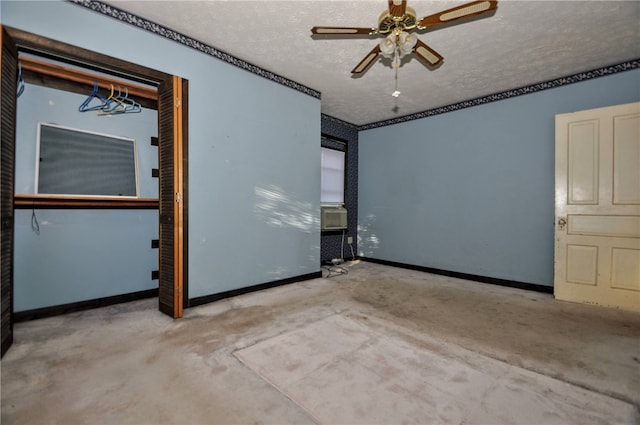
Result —
<path fill-rule="evenodd" d="M 234 355 L 323 424 L 633 420 L 630 403 L 405 332 L 345 312 Z"/>

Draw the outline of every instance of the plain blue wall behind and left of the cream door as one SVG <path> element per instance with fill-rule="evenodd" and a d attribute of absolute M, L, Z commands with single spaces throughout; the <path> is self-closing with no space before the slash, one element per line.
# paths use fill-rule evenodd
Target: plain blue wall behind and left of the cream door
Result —
<path fill-rule="evenodd" d="M 361 131 L 360 254 L 553 285 L 554 116 L 638 100 L 633 70 Z"/>

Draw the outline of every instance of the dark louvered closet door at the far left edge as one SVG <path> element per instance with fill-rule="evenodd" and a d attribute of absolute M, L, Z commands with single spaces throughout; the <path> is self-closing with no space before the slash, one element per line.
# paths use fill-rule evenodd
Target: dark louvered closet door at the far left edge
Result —
<path fill-rule="evenodd" d="M 0 99 L 2 102 L 1 146 L 0 146 L 0 335 L 2 337 L 1 356 L 13 343 L 13 191 L 15 174 L 15 122 L 16 122 L 16 81 L 18 53 L 15 43 L 4 28 L 0 28 L 2 39 L 2 64 Z"/>

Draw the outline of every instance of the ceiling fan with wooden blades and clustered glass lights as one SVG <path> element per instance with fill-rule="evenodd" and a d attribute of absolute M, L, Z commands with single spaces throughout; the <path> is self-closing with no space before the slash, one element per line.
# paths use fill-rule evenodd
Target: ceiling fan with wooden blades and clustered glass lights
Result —
<path fill-rule="evenodd" d="M 498 7 L 494 0 L 479 0 L 456 6 L 433 15 L 417 19 L 416 12 L 407 6 L 407 0 L 388 0 L 389 8 L 380 15 L 377 28 L 363 27 L 313 27 L 314 35 L 384 35 L 387 37 L 373 48 L 351 71 L 361 74 L 367 70 L 379 54 L 387 58 L 402 58 L 415 53 L 427 66 L 435 67 L 442 62 L 442 56 L 418 39 L 412 30 L 425 30 L 449 24 L 470 16 L 480 15 Z M 399 63 L 399 62 L 398 62 Z"/>

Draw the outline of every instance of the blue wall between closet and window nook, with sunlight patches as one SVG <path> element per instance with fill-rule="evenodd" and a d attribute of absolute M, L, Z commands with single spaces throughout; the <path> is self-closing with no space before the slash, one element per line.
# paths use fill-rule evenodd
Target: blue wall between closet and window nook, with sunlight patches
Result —
<path fill-rule="evenodd" d="M 0 8 L 3 24 L 189 80 L 191 298 L 320 270 L 319 99 L 71 3 Z"/>

